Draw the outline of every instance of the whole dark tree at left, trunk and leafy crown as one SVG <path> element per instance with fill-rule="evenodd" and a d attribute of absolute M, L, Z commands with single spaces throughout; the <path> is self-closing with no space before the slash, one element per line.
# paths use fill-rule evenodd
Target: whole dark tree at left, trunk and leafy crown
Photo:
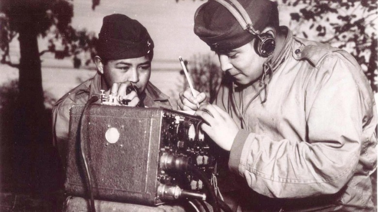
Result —
<path fill-rule="evenodd" d="M 96 2 L 98 4 L 99 0 Z M 38 179 L 43 175 L 38 173 L 36 166 L 41 159 L 39 154 L 46 153 L 44 147 L 51 143 L 44 139 L 50 137 L 47 135 L 51 134 L 51 123 L 48 122 L 51 119 L 44 106 L 40 56 L 52 52 L 56 59 L 63 59 L 79 51 L 94 49 L 96 38 L 86 30 L 73 29 L 70 25 L 72 17 L 71 0 L 0 1 L 0 62 L 19 70 L 13 117 L 16 136 L 10 141 L 14 146 L 10 155 L 15 159 L 14 167 L 18 168 L 16 175 L 22 184 L 29 180 L 31 182 L 26 183 L 38 186 Z M 47 35 L 50 36 L 48 48 L 40 51 L 38 38 L 47 39 Z M 9 44 L 16 38 L 20 46 L 17 64 L 9 57 Z M 57 49 L 57 43 L 63 49 Z"/>

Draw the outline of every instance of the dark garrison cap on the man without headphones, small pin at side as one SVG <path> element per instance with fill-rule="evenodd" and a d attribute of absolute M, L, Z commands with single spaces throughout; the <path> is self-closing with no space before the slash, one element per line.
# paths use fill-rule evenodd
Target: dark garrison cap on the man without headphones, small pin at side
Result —
<path fill-rule="evenodd" d="M 103 19 L 97 55 L 104 60 L 122 60 L 154 55 L 154 42 L 146 28 L 126 15 L 113 14 Z"/>

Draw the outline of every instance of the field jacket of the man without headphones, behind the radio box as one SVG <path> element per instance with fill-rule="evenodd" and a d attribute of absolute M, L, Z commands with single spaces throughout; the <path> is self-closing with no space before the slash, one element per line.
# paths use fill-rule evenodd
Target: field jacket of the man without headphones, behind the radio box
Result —
<path fill-rule="evenodd" d="M 58 149 L 63 167 L 67 154 L 70 108 L 74 105 L 85 105 L 88 97 L 99 94 L 100 90 L 101 75 L 96 74 L 93 78 L 63 95 L 52 108 L 53 144 Z M 151 82 L 148 82 L 144 92 L 145 95 L 142 98 L 144 106 L 172 108 L 168 101 L 169 97 L 159 91 Z"/>

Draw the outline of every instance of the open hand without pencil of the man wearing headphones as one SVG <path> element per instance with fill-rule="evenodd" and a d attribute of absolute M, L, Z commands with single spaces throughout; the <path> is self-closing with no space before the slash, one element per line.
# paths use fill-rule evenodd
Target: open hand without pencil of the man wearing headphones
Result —
<path fill-rule="evenodd" d="M 236 134 L 239 132 L 235 121 L 216 105 L 203 105 L 194 115 L 202 117 L 207 123 L 201 129 L 223 150 L 230 151 Z"/>

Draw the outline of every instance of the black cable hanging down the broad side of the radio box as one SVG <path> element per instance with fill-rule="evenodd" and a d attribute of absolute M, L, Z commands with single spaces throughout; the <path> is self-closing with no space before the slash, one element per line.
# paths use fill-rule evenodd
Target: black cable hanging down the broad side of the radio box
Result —
<path fill-rule="evenodd" d="M 85 173 L 86 173 L 87 179 L 88 179 L 88 192 L 89 192 L 90 203 L 91 203 L 90 204 L 90 206 L 91 206 L 91 212 L 96 212 L 96 209 L 94 207 L 94 197 L 93 197 L 93 191 L 92 191 L 91 173 L 90 173 L 89 168 L 88 168 L 88 163 L 87 163 L 87 159 L 85 157 L 84 145 L 83 145 L 83 140 L 84 140 L 83 129 L 84 129 L 84 126 L 86 126 L 86 124 L 83 121 L 83 115 L 84 115 L 84 113 L 87 113 L 87 110 L 89 109 L 89 106 L 92 103 L 96 102 L 98 99 L 99 98 L 97 96 L 92 96 L 92 98 L 90 98 L 88 100 L 88 102 L 85 104 L 83 112 L 81 113 L 81 116 L 80 116 L 80 151 L 81 151 L 81 157 L 82 157 L 83 162 L 84 162 Z"/>

